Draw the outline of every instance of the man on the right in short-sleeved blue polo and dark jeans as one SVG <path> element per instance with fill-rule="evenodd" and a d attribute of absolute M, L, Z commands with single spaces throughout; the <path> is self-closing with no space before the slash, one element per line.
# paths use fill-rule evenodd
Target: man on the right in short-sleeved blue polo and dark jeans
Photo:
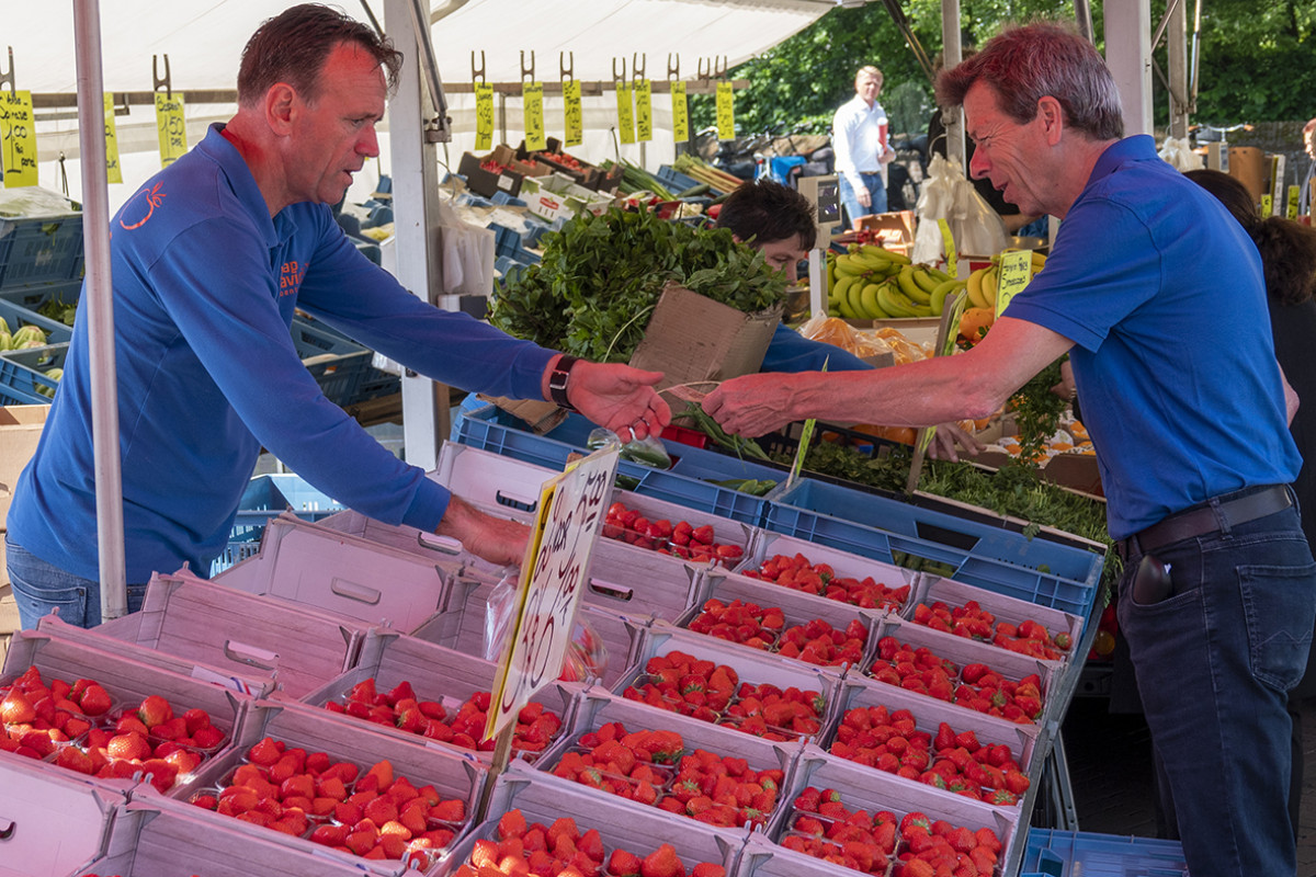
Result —
<path fill-rule="evenodd" d="M 1125 567 L 1120 632 L 1188 870 L 1292 874 L 1286 702 L 1316 564 L 1288 486 L 1296 402 L 1257 249 L 1150 137 L 1123 137 L 1115 80 L 1069 28 L 1003 32 L 937 95 L 963 105 L 974 176 L 1063 220 L 1046 268 L 962 355 L 750 375 L 704 409 L 742 435 L 808 417 L 921 426 L 986 415 L 1069 352 Z"/>

